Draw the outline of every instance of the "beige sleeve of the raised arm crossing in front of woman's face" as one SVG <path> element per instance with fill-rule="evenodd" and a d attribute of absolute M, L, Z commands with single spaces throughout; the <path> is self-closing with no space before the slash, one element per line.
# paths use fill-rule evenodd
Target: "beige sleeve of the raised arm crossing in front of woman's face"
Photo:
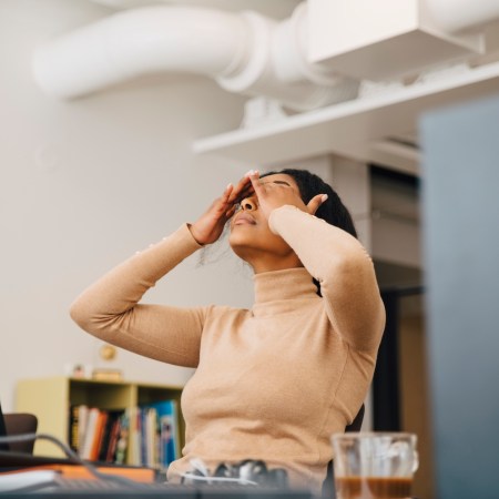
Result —
<path fill-rule="evenodd" d="M 327 315 L 342 337 L 358 350 L 378 345 L 385 307 L 373 261 L 361 244 L 347 232 L 295 206 L 274 210 L 268 223 L 320 283 Z"/>

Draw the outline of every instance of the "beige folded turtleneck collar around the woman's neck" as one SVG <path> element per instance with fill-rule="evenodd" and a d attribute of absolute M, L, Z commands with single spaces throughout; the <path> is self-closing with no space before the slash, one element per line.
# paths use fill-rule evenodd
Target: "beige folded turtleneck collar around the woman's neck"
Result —
<path fill-rule="evenodd" d="M 254 315 L 289 312 L 297 299 L 319 299 L 317 286 L 304 267 L 263 272 L 253 276 L 255 284 Z"/>

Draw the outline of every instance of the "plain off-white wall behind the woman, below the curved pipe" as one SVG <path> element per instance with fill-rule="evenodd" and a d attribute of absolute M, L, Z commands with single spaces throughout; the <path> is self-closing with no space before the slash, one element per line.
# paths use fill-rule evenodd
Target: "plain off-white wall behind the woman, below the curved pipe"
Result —
<path fill-rule="evenodd" d="M 71 322 L 70 303 L 111 266 L 193 221 L 248 166 L 192 155 L 193 139 L 242 120 L 243 99 L 207 80 L 156 78 L 70 103 L 35 88 L 37 42 L 108 13 L 84 0 L 0 0 L 4 410 L 13 409 L 18 379 L 95 364 L 98 342 Z M 248 306 L 251 273 L 234 256 L 222 259 L 195 268 L 191 257 L 146 299 Z M 191 374 L 124 352 L 116 364 L 136 380 L 182 384 Z"/>

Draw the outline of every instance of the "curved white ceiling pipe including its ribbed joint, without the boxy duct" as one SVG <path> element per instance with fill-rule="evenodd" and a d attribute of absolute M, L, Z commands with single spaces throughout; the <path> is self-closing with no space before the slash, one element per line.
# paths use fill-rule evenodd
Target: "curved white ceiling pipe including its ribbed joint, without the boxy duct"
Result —
<path fill-rule="evenodd" d="M 357 81 L 306 62 L 303 35 L 295 32 L 304 19 L 304 8 L 283 23 L 196 7 L 129 10 L 38 48 L 34 77 L 63 99 L 157 72 L 208 75 L 226 90 L 298 111 L 356 96 Z"/>

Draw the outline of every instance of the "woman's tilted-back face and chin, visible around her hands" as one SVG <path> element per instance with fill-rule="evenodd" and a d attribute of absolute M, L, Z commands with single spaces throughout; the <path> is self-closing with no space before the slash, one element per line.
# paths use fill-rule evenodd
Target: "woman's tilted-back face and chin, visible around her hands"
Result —
<path fill-rule="evenodd" d="M 259 182 L 292 189 L 301 196 L 298 185 L 291 175 L 276 173 L 264 176 Z M 289 245 L 268 227 L 256 194 L 242 200 L 241 207 L 231 218 L 228 242 L 234 253 L 252 265 L 255 273 L 302 266 Z"/>

